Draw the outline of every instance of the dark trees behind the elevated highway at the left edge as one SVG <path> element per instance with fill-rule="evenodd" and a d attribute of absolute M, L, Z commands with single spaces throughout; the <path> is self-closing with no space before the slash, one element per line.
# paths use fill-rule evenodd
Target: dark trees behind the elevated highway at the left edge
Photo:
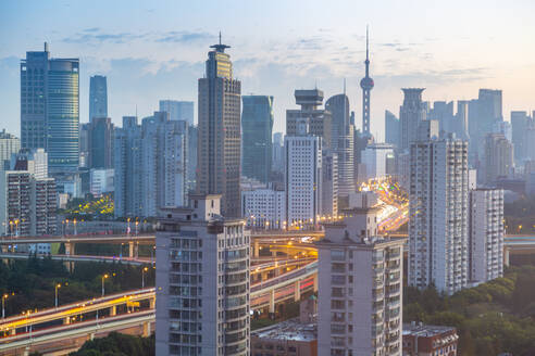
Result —
<path fill-rule="evenodd" d="M 141 267 L 121 263 L 75 263 L 72 271 L 50 257 L 0 263 L 0 293 L 9 295 L 5 315 L 53 307 L 58 284 L 60 305 L 100 296 L 104 275 L 105 294 L 141 288 Z M 153 268 L 145 274 L 145 285 L 154 285 Z"/>

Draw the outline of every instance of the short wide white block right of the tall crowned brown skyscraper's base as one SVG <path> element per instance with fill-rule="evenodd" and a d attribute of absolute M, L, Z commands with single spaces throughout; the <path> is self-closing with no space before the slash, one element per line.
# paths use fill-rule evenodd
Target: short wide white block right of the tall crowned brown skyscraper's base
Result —
<path fill-rule="evenodd" d="M 286 227 L 286 193 L 284 190 L 260 188 L 241 191 L 241 216 L 247 226 L 265 229 Z"/>

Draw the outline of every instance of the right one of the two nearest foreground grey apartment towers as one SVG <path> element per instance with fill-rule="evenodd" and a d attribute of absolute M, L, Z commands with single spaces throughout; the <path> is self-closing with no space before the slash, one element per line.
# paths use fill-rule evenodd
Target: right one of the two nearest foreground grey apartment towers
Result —
<path fill-rule="evenodd" d="M 405 241 L 366 237 L 365 219 L 327 224 L 316 242 L 318 355 L 401 356 Z"/>

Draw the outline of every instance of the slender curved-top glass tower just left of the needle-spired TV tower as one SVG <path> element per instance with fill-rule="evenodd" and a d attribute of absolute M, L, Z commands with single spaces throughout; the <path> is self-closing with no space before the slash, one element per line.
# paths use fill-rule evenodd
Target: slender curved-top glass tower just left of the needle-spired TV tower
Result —
<path fill-rule="evenodd" d="M 331 97 L 325 110 L 332 115 L 332 150 L 338 155 L 338 195 L 349 196 L 354 192 L 354 127 L 349 117 L 349 99 L 345 93 Z"/>

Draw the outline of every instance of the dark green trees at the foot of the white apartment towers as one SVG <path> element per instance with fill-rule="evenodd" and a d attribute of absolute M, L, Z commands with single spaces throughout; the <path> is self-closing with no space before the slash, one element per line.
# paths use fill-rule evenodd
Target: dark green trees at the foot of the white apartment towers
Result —
<path fill-rule="evenodd" d="M 535 355 L 535 266 L 510 267 L 503 278 L 451 296 L 407 288 L 403 322 L 456 327 L 463 356 Z"/>

